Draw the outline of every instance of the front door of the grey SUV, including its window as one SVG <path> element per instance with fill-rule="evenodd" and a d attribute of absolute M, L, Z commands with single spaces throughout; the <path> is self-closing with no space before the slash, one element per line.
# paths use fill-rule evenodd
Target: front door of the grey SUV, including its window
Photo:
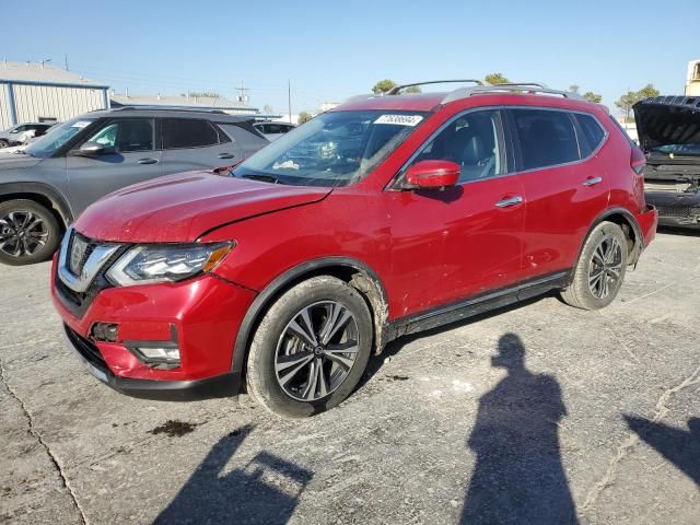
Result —
<path fill-rule="evenodd" d="M 107 120 L 69 152 L 68 186 L 77 213 L 104 195 L 162 175 L 161 152 L 154 148 L 154 124 L 152 118 Z M 104 145 L 105 154 L 75 155 L 85 142 Z"/>

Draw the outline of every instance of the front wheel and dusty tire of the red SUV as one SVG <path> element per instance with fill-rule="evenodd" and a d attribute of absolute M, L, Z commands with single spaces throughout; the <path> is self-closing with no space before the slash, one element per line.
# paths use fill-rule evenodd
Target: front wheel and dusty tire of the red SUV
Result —
<path fill-rule="evenodd" d="M 357 386 L 372 342 L 360 292 L 335 277 L 314 277 L 282 294 L 260 322 L 248 354 L 248 392 L 282 417 L 328 410 Z"/>

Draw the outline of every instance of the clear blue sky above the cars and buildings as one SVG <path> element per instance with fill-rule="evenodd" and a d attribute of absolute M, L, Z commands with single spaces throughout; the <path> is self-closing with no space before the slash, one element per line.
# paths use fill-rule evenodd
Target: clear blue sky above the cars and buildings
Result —
<path fill-rule="evenodd" d="M 214 91 L 276 113 L 399 83 L 483 78 L 580 85 L 614 102 L 653 83 L 682 94 L 700 58 L 698 0 L 0 0 L 0 60 L 51 59 L 118 93 Z"/>

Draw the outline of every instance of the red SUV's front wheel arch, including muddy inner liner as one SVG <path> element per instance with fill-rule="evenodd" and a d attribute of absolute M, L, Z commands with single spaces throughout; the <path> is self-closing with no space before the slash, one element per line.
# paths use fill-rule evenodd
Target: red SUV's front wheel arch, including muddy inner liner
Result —
<path fill-rule="evenodd" d="M 386 341 L 388 300 L 378 275 L 369 265 L 350 257 L 324 257 L 291 268 L 272 280 L 255 298 L 243 317 L 234 342 L 231 366 L 234 374 L 245 375 L 250 340 L 267 310 L 287 290 L 316 276 L 337 277 L 362 293 L 374 323 L 375 351 L 378 353 L 383 349 Z"/>

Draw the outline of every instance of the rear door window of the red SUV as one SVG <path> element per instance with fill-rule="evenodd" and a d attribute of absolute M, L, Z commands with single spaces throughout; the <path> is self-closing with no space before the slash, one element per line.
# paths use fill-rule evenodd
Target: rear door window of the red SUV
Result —
<path fill-rule="evenodd" d="M 579 143 L 568 112 L 513 109 L 523 170 L 579 161 Z"/>

